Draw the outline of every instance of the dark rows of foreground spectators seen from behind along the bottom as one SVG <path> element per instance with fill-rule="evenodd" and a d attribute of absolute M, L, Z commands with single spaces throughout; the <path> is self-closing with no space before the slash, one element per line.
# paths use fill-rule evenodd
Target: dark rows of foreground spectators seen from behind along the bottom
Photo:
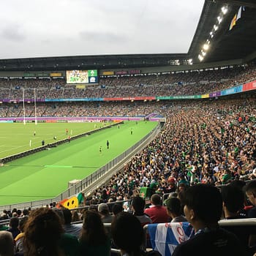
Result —
<path fill-rule="evenodd" d="M 254 208 L 244 208 L 245 197 L 241 186 Z M 154 240 L 154 233 L 150 231 L 150 224 L 154 223 L 165 225 L 162 232 L 178 227 L 180 236 L 187 225 L 187 237 L 182 235 L 182 240 L 178 240 L 178 237 L 169 235 L 170 238 L 165 240 L 171 255 L 205 255 L 208 250 L 208 255 L 212 256 L 229 253 L 251 256 L 256 252 L 255 229 L 252 226 L 244 229 L 231 227 L 231 230 L 219 227 L 219 219 L 255 217 L 255 192 L 256 181 L 246 186 L 233 181 L 221 191 L 208 184 L 195 184 L 176 195 L 170 194 L 164 202 L 165 206 L 162 206 L 159 194 L 151 195 L 148 208 L 145 208 L 143 197 L 134 195 L 129 211 L 125 204 L 118 202 L 113 205 L 113 214 L 110 214 L 108 204 L 99 203 L 83 210 L 80 214 L 82 223 L 79 224 L 72 222 L 76 211 L 72 213 L 63 207 L 4 211 L 10 221 L 9 225 L 0 225 L 0 255 L 109 256 L 110 251 L 115 252 L 116 249 L 120 250 L 119 255 L 127 256 L 170 255 L 165 246 L 160 246 L 163 243 L 161 236 L 165 235 L 158 234 L 159 237 Z M 148 224 L 150 236 L 146 238 L 143 227 Z M 160 244 L 156 246 L 158 242 Z M 146 248 L 153 250 L 146 252 Z"/>

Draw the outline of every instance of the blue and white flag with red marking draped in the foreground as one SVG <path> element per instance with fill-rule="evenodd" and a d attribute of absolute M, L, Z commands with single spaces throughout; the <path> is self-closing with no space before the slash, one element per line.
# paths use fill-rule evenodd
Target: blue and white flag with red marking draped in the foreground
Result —
<path fill-rule="evenodd" d="M 188 240 L 194 233 L 189 222 L 148 224 L 152 249 L 162 256 L 171 256 L 178 244 Z"/>

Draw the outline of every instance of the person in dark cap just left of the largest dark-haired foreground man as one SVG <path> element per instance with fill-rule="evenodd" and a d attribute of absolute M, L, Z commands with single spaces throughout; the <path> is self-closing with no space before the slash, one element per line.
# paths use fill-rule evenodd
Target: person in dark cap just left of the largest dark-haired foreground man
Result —
<path fill-rule="evenodd" d="M 167 214 L 172 218 L 170 222 L 187 222 L 181 214 L 181 200 L 178 197 L 170 197 L 165 200 Z"/>

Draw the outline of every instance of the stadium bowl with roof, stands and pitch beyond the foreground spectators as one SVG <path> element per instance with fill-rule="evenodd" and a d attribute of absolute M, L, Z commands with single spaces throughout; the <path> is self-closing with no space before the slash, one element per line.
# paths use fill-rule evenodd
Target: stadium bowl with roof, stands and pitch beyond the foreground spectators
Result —
<path fill-rule="evenodd" d="M 255 1 L 206 0 L 187 53 L 0 59 L 0 226 L 14 208 L 163 204 L 182 187 L 250 184 L 255 27 Z"/>

